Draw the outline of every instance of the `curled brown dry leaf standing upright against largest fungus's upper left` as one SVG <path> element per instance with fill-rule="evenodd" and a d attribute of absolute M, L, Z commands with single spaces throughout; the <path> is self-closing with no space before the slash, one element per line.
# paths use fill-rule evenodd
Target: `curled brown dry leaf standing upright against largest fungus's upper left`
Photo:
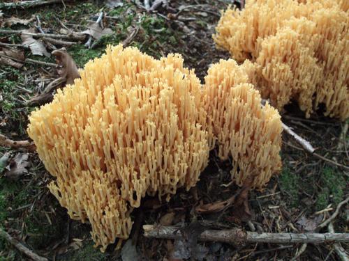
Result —
<path fill-rule="evenodd" d="M 80 78 L 79 70 L 73 58 L 62 48 L 54 50 L 52 54 L 56 58 L 56 62 L 61 66 L 61 77 L 66 79 L 66 84 L 74 84 L 74 79 Z"/>

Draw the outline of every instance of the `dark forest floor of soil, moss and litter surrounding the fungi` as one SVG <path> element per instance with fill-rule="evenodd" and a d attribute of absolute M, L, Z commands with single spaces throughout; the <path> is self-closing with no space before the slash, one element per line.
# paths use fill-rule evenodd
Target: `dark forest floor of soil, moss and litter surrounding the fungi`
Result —
<path fill-rule="evenodd" d="M 169 8 L 159 7 L 154 12 L 147 12 L 140 6 L 143 1 L 62 1 L 35 8 L 2 8 L 0 23 L 1 29 L 35 29 L 38 16 L 45 33 L 59 34 L 64 26 L 80 32 L 104 11 L 103 23 L 112 29 L 111 35 L 94 40 L 91 49 L 84 45 L 86 40 L 75 41 L 74 45 L 67 47 L 79 68 L 83 68 L 89 59 L 101 56 L 106 45 L 117 45 L 127 39 L 129 46 L 138 47 L 156 58 L 170 52 L 181 54 L 185 65 L 195 69 L 204 81 L 209 65 L 220 58 L 229 58 L 228 53 L 216 49 L 211 38 L 220 10 L 227 8 L 229 2 L 232 1 L 170 1 Z M 114 7 L 108 7 L 107 3 Z M 18 19 L 11 20 L 11 17 Z M 20 36 L 15 33 L 0 33 L 0 54 L 3 54 L 6 44 L 14 45 L 16 52 L 23 50 L 25 58 L 55 63 L 53 56 L 34 55 L 30 49 L 15 46 L 22 45 Z M 61 46 L 44 42 L 48 53 L 56 47 Z M 1 63 L 0 59 L 0 134 L 13 140 L 26 140 L 28 116 L 35 109 L 27 106 L 26 101 L 43 91 L 59 75 L 57 69 L 49 64 L 26 62 L 20 68 L 14 68 Z M 142 209 L 133 212 L 135 224 L 130 238 L 135 244 L 128 242 L 121 250 L 115 250 L 114 244 L 101 253 L 93 247 L 90 226 L 70 220 L 66 209 L 47 189 L 52 176 L 36 152 L 1 147 L 0 228 L 31 251 L 50 260 L 291 260 L 302 244 L 248 244 L 236 248 L 219 242 L 198 243 L 198 251 L 193 253 L 172 240 L 146 239 L 142 230 L 137 228 L 144 224 L 173 225 L 197 221 L 215 229 L 239 227 L 258 232 L 315 230 L 348 197 L 349 180 L 348 171 L 342 167 L 349 164 L 348 135 L 344 137 L 346 142 L 342 148 L 338 149 L 344 123 L 320 115 L 305 119 L 297 106 L 285 108 L 283 122 L 309 141 L 325 160 L 304 151 L 295 139 L 283 133 L 283 169 L 272 177 L 264 191 L 251 191 L 249 222 L 234 218 L 235 212 L 239 211 L 234 205 L 218 213 L 198 214 L 193 211 L 198 203 L 225 200 L 237 191 L 234 185 L 223 186 L 230 182 L 230 162 L 219 161 L 216 152 L 212 152 L 209 166 L 196 187 L 190 191 L 179 189 L 169 203 L 144 198 Z M 336 232 L 349 232 L 347 205 L 342 207 L 333 223 Z M 327 228 L 320 232 L 327 232 Z M 348 249 L 349 245 L 343 247 Z M 0 260 L 28 258 L 0 238 Z M 308 244 L 297 260 L 339 260 L 339 257 L 333 244 Z"/>

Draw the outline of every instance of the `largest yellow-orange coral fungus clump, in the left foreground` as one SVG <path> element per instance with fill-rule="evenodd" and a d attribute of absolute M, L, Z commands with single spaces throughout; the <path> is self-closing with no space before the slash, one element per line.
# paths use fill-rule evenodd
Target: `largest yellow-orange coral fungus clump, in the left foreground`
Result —
<path fill-rule="evenodd" d="M 146 193 L 198 181 L 209 154 L 200 88 L 180 56 L 156 60 L 119 45 L 31 114 L 29 136 L 56 177 L 50 191 L 71 218 L 91 223 L 102 251 L 128 237 Z"/>

